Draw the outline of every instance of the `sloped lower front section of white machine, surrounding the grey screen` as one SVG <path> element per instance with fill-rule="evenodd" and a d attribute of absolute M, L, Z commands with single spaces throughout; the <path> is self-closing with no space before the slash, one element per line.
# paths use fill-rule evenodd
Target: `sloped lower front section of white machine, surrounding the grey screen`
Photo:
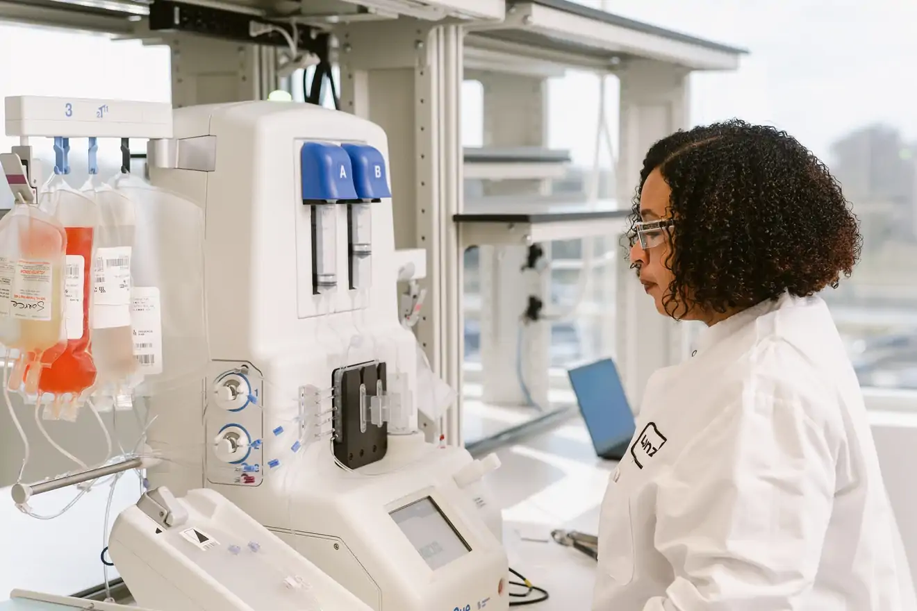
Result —
<path fill-rule="evenodd" d="M 465 450 L 418 433 L 392 436 L 371 471 L 309 462 L 271 529 L 372 609 L 509 608 L 502 542 L 457 484 L 477 463 Z"/>

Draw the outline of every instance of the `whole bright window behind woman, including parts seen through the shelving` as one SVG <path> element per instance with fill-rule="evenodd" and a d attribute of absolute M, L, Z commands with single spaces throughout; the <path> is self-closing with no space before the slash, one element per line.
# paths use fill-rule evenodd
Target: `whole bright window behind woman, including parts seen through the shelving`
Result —
<path fill-rule="evenodd" d="M 780 5 L 731 6 L 703 0 L 679 3 L 633 3 L 627 0 L 579 0 L 580 4 L 634 18 L 701 38 L 751 50 L 737 71 L 691 75 L 691 124 L 739 116 L 786 129 L 822 158 L 844 186 L 861 221 L 864 249 L 852 278 L 824 299 L 834 313 L 861 384 L 867 394 L 917 390 L 917 115 L 911 108 L 910 82 L 888 58 L 917 54 L 908 29 L 917 8 L 892 0 L 837 5 L 828 0 L 803 0 Z M 824 16 L 830 14 L 830 19 Z M 716 18 L 712 18 L 715 16 Z M 812 23 L 818 23 L 812 42 Z M 851 45 L 850 40 L 860 41 Z M 618 140 L 618 87 L 607 81 L 607 116 L 611 140 Z M 482 104 L 477 83 L 466 83 L 463 135 L 469 145 L 482 141 Z M 567 149 L 572 163 L 551 191 L 582 196 L 591 169 L 599 110 L 599 80 L 589 72 L 568 71 L 548 85 L 548 147 Z M 604 152 L 604 151 L 603 151 Z M 615 151 L 616 153 L 616 151 Z M 614 163 L 603 157 L 601 191 L 613 197 Z M 466 181 L 466 197 L 481 183 Z M 629 202 L 619 202 L 626 207 Z M 551 307 L 564 310 L 580 295 L 580 269 L 597 278 L 588 287 L 572 320 L 552 325 L 551 386 L 566 386 L 563 369 L 604 355 L 613 355 L 615 333 L 613 271 L 599 271 L 596 258 L 621 256 L 612 244 L 596 245 L 592 261 L 582 256 L 581 241 L 549 245 L 553 252 L 549 294 Z M 478 261 L 466 255 L 466 396 L 476 397 L 481 378 L 481 320 L 474 308 L 481 286 Z M 613 266 L 609 266 L 613 267 Z M 602 279 L 598 279 L 602 278 Z M 599 291 L 599 292 L 591 292 Z M 608 324 L 612 323 L 609 330 Z M 621 321 L 619 321 L 621 322 Z M 486 326 L 486 325 L 483 325 Z M 696 336 L 697 325 L 685 325 Z M 888 391 L 888 392 L 886 392 Z M 470 394 L 469 394 L 470 393 Z M 467 405 L 467 403 L 466 403 Z M 466 416 L 470 413 L 466 410 Z M 466 418 L 468 420 L 468 418 Z"/>

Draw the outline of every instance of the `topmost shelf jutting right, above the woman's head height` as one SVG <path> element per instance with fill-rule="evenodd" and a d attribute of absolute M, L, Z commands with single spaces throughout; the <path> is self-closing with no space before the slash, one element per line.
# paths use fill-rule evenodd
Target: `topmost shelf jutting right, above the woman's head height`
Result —
<path fill-rule="evenodd" d="M 472 26 L 466 44 L 557 64 L 597 67 L 640 58 L 690 70 L 735 70 L 747 52 L 569 0 L 513 3 L 502 22 Z"/>

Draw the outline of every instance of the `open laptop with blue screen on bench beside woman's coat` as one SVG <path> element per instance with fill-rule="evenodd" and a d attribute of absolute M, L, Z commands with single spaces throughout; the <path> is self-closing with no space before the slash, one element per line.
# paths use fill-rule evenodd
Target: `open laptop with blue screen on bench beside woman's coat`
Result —
<path fill-rule="evenodd" d="M 620 461 L 634 437 L 636 422 L 614 362 L 604 358 L 569 369 L 567 375 L 595 453 L 606 460 Z"/>

